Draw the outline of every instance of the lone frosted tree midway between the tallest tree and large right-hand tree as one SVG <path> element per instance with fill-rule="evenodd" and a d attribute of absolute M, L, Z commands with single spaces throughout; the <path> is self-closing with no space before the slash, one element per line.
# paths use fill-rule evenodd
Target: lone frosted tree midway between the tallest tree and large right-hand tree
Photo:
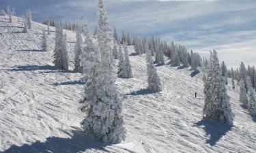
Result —
<path fill-rule="evenodd" d="M 156 92 L 160 92 L 162 91 L 162 84 L 160 82 L 158 73 L 156 72 L 152 54 L 147 43 L 145 44 L 145 50 L 147 55 L 147 88 L 150 90 L 155 90 Z"/>

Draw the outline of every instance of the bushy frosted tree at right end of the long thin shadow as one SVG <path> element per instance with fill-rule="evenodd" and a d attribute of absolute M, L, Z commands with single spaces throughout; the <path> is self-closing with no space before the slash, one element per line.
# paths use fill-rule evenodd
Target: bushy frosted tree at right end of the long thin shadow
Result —
<path fill-rule="evenodd" d="M 66 35 L 63 34 L 63 29 L 58 25 L 56 27 L 55 49 L 54 49 L 54 65 L 61 70 L 68 70 L 68 50 L 67 50 Z"/>

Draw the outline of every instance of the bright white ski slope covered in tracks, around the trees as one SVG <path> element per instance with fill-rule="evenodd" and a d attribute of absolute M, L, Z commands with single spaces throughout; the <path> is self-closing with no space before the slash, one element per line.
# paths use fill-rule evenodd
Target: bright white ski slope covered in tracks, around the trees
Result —
<path fill-rule="evenodd" d="M 159 65 L 163 91 L 150 92 L 145 55 L 130 56 L 134 78 L 116 82 L 124 96 L 126 141 L 106 146 L 85 137 L 77 109 L 81 75 L 53 67 L 55 29 L 47 35 L 50 51 L 42 52 L 45 25 L 33 22 L 25 34 L 21 18 L 7 21 L 0 16 L 0 152 L 255 152 L 256 122 L 240 107 L 238 86 L 227 86 L 235 126 L 203 119 L 200 74 Z M 72 69 L 75 33 L 66 33 Z"/>

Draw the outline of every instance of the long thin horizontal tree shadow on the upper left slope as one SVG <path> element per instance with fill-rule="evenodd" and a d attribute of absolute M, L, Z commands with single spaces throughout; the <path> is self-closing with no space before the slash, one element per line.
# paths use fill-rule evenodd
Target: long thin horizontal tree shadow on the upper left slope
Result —
<path fill-rule="evenodd" d="M 11 71 L 34 71 L 34 70 L 57 70 L 57 67 L 51 65 L 25 65 L 18 66 Z"/>

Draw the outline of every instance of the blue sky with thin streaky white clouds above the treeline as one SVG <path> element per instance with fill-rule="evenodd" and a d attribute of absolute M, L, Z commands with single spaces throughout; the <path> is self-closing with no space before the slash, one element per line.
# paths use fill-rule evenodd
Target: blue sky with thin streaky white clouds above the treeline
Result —
<path fill-rule="evenodd" d="M 0 0 L 0 7 L 16 7 L 18 14 L 31 8 L 33 20 L 39 22 L 44 18 L 79 21 L 85 16 L 94 27 L 98 20 L 97 3 L 96 0 Z M 229 60 L 229 54 L 241 53 L 227 63 L 237 65 L 235 58 L 240 58 L 256 65 L 255 0 L 105 0 L 104 3 L 112 27 L 119 31 L 155 35 L 202 54 L 216 48 L 225 61 Z M 236 46 L 233 48 L 236 51 L 232 51 L 232 46 Z"/>

